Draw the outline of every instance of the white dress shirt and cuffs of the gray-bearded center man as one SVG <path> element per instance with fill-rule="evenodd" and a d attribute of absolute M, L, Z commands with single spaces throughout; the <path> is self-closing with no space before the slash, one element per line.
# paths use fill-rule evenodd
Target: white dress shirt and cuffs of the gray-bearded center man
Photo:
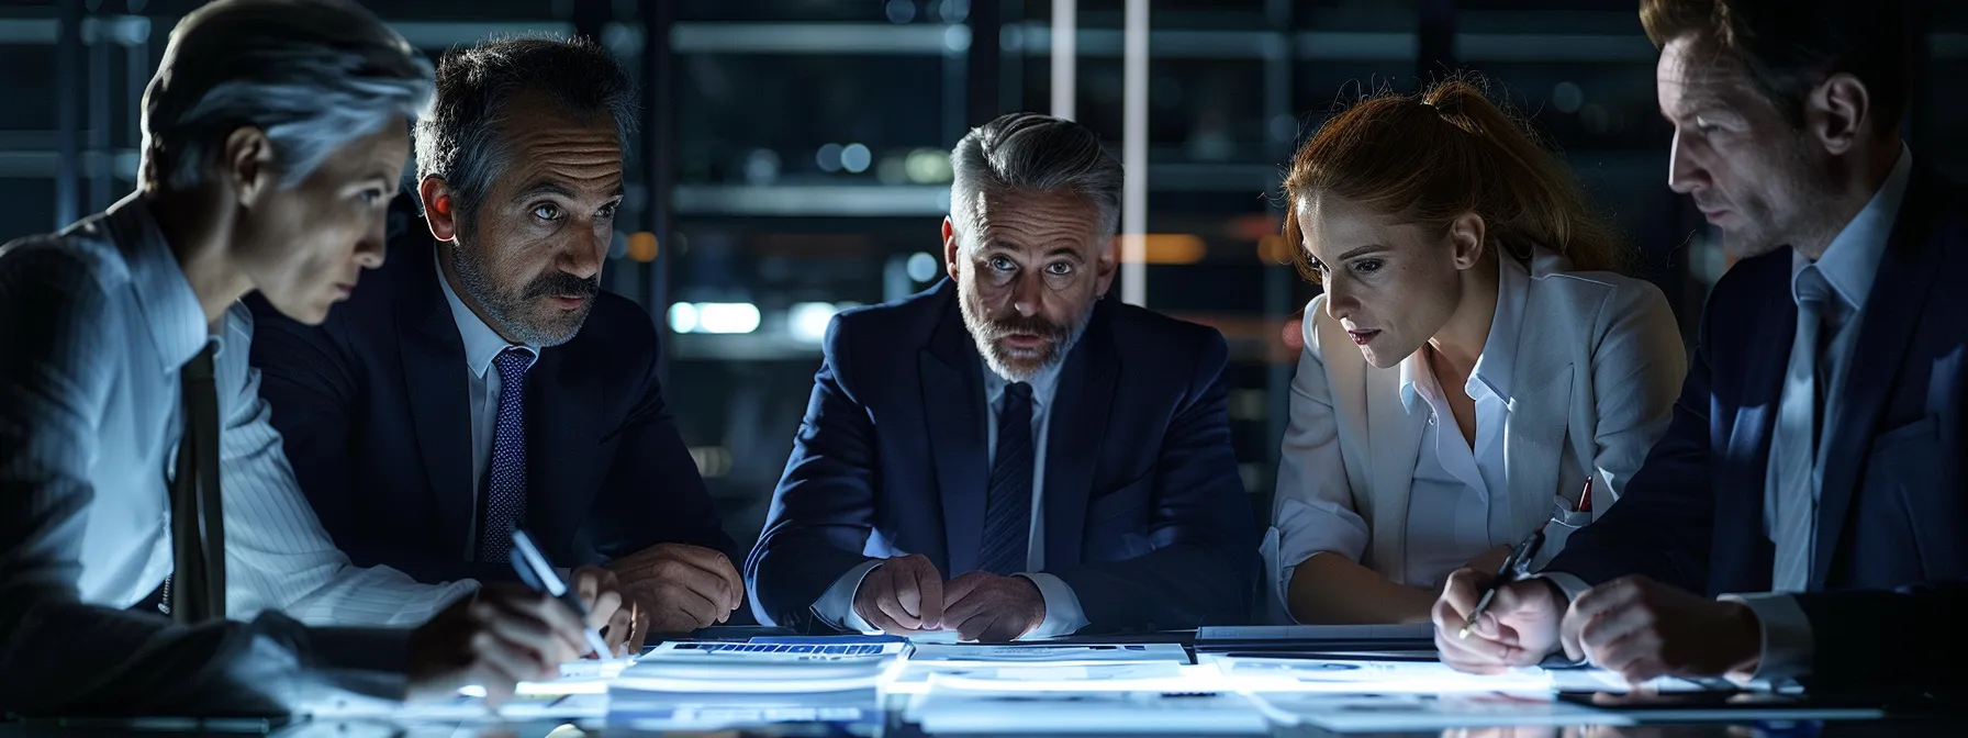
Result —
<path fill-rule="evenodd" d="M 982 362 L 982 360 L 980 360 Z M 986 468 L 998 461 L 998 413 L 1004 409 L 1004 388 L 1010 382 L 990 366 L 984 368 L 984 439 L 986 439 Z M 1031 378 L 1031 529 L 1029 543 L 1025 549 L 1025 573 L 1017 577 L 1029 579 L 1039 588 L 1039 596 L 1045 598 L 1045 620 L 1037 628 L 1027 632 L 1025 640 L 1031 638 L 1053 638 L 1067 636 L 1080 628 L 1086 628 L 1086 610 L 1080 608 L 1078 594 L 1073 592 L 1065 581 L 1055 575 L 1045 573 L 1045 439 L 1049 409 L 1053 407 L 1053 392 L 1059 388 L 1059 366 L 1051 366 Z M 854 612 L 854 592 L 860 588 L 862 579 L 868 577 L 880 561 L 868 561 L 860 567 L 848 569 L 846 575 L 834 581 L 827 592 L 813 604 L 813 612 L 821 620 L 840 628 L 856 630 L 862 634 L 876 634 L 880 628 L 868 624 L 860 612 Z M 954 579 L 962 575 L 960 571 L 945 571 L 943 577 Z"/>

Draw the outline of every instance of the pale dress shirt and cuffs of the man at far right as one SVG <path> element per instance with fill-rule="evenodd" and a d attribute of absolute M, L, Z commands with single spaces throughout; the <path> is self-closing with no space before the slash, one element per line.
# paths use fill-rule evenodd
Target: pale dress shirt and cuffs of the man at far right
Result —
<path fill-rule="evenodd" d="M 1879 274 L 1879 258 L 1885 256 L 1887 240 L 1893 234 L 1893 222 L 1899 220 L 1899 205 L 1907 195 L 1907 179 L 1913 173 L 1913 152 L 1905 144 L 1899 148 L 1899 161 L 1893 171 L 1879 185 L 1879 191 L 1872 195 L 1872 201 L 1838 230 L 1838 236 L 1824 246 L 1824 256 L 1814 264 L 1801 252 L 1791 252 L 1791 299 L 1797 299 L 1797 276 L 1805 268 L 1814 266 L 1824 281 L 1830 283 L 1832 293 L 1846 303 L 1844 323 L 1840 323 L 1838 333 L 1830 337 L 1824 354 L 1820 356 L 1826 364 L 1818 376 L 1830 382 L 1830 388 L 1844 386 L 1848 368 L 1852 366 L 1852 346 L 1858 344 L 1860 327 L 1866 323 L 1866 299 L 1872 295 L 1874 276 Z M 1791 350 L 1816 350 L 1816 346 L 1791 346 Z M 1824 392 L 1824 403 L 1818 407 L 1820 417 L 1832 417 L 1838 407 L 1838 392 Z M 1779 394 L 1777 407 L 1783 405 Z M 1832 427 L 1824 423 L 1824 427 Z M 1805 431 L 1809 433 L 1809 431 Z M 1783 459 L 1781 447 L 1791 443 L 1811 443 L 1809 437 L 1799 437 L 1797 429 L 1785 429 L 1777 423 L 1771 433 L 1771 453 L 1769 459 Z M 1771 537 L 1771 543 L 1779 549 L 1775 551 L 1777 561 L 1801 559 L 1805 561 L 1805 571 L 1811 571 L 1809 563 L 1816 551 L 1813 543 L 1816 541 L 1816 498 L 1818 484 L 1824 476 L 1824 455 L 1826 449 L 1820 445 L 1816 461 L 1813 462 L 1813 474 L 1809 486 L 1785 486 L 1777 484 L 1777 464 L 1771 462 L 1763 478 L 1763 535 Z M 1779 510 L 1797 510 L 1803 506 L 1811 510 L 1809 523 L 1803 525 L 1803 535 L 1795 539 L 1787 535 L 1777 535 Z M 1779 541 L 1781 537 L 1781 541 Z M 1781 569 L 1781 565 L 1777 565 Z M 1773 577 L 1777 573 L 1773 571 Z M 1588 586 L 1582 579 L 1567 573 L 1545 575 L 1559 588 L 1565 590 L 1568 598 L 1578 598 Z M 1773 579 L 1775 583 L 1775 579 Z M 1757 681 L 1785 681 L 1811 675 L 1811 659 L 1814 655 L 1811 618 L 1791 596 L 1795 590 L 1803 588 L 1797 583 L 1789 586 L 1785 583 L 1775 583 L 1775 592 L 1748 592 L 1748 594 L 1724 594 L 1724 600 L 1736 600 L 1755 612 L 1761 624 L 1761 659 L 1757 659 L 1757 669 L 1753 675 L 1734 675 L 1742 679 Z"/>

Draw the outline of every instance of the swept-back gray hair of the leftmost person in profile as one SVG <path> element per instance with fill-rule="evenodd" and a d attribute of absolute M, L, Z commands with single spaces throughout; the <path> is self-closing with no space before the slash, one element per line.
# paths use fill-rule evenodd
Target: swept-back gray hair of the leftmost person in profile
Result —
<path fill-rule="evenodd" d="M 258 128 L 291 187 L 431 92 L 431 63 L 354 2 L 216 0 L 171 30 L 144 91 L 140 179 L 195 189 L 226 136 Z"/>

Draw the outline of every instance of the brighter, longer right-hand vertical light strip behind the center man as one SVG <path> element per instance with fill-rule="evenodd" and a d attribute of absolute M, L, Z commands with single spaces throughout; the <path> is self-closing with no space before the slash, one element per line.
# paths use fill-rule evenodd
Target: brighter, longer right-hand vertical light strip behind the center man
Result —
<path fill-rule="evenodd" d="M 1122 91 L 1120 299 L 1147 305 L 1147 0 L 1128 0 Z"/>

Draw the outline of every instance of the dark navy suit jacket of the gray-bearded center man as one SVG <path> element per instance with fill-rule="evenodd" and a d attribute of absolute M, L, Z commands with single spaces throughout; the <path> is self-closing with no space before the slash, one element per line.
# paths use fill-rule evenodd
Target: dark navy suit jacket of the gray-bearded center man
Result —
<path fill-rule="evenodd" d="M 949 579 L 984 531 L 982 360 L 956 285 L 840 313 L 746 561 L 762 622 L 813 628 L 813 602 L 870 559 L 921 553 Z M 1047 573 L 1088 632 L 1242 622 L 1258 577 L 1212 329 L 1100 301 L 1061 368 L 1047 439 Z"/>

